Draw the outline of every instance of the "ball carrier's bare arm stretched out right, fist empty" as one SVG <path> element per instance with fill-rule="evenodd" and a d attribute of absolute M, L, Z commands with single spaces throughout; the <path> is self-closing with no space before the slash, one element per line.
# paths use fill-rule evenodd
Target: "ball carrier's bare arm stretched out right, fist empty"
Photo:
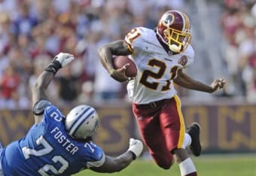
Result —
<path fill-rule="evenodd" d="M 217 79 L 214 80 L 211 85 L 207 85 L 200 81 L 194 80 L 187 74 L 184 74 L 182 69 L 178 70 L 177 77 L 175 77 L 173 81 L 174 83 L 178 84 L 178 86 L 182 86 L 189 90 L 198 90 L 206 93 L 213 93 L 218 89 L 222 89 L 226 83 L 224 79 Z"/>

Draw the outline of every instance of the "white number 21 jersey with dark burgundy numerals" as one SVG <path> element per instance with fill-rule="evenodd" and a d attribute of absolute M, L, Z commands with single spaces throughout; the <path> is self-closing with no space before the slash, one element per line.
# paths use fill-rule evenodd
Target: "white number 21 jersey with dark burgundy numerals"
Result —
<path fill-rule="evenodd" d="M 179 68 L 194 62 L 194 49 L 189 45 L 183 53 L 167 53 L 156 32 L 143 27 L 132 29 L 124 40 L 133 51 L 131 59 L 138 69 L 135 80 L 127 84 L 130 99 L 136 104 L 147 104 L 172 98 L 176 93 L 172 80 Z"/>

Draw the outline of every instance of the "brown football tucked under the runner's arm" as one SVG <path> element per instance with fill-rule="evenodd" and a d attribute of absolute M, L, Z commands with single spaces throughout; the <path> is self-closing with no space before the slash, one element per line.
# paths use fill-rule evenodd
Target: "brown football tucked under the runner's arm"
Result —
<path fill-rule="evenodd" d="M 122 68 L 126 63 L 130 63 L 125 71 L 126 77 L 136 77 L 137 68 L 132 59 L 129 59 L 128 56 L 114 56 L 113 58 L 113 65 L 115 69 Z"/>

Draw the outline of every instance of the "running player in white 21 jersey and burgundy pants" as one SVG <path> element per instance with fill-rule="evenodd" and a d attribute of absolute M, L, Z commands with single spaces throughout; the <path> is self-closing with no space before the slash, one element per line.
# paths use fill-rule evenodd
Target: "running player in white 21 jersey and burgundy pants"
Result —
<path fill-rule="evenodd" d="M 186 129 L 173 83 L 190 90 L 213 93 L 223 88 L 225 80 L 216 79 L 211 85 L 194 80 L 183 69 L 194 62 L 194 49 L 190 46 L 190 21 L 180 11 L 166 11 L 156 30 L 138 27 L 124 40 L 114 41 L 99 48 L 102 65 L 115 80 L 127 84 L 133 101 L 133 113 L 145 145 L 154 161 L 168 169 L 174 160 L 181 175 L 195 176 L 197 170 L 187 154 L 186 147 L 200 156 L 200 126 L 192 123 Z M 137 66 L 137 75 L 126 77 L 123 68 L 114 69 L 113 56 L 128 56 Z"/>

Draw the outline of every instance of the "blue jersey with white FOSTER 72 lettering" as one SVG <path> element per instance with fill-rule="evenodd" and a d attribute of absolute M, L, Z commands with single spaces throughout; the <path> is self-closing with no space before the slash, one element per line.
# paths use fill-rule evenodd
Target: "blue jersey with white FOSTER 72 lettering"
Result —
<path fill-rule="evenodd" d="M 1 153 L 5 175 L 71 175 L 105 162 L 102 148 L 93 141 L 76 141 L 65 130 L 65 118 L 55 106 L 44 111 L 41 123 Z"/>

